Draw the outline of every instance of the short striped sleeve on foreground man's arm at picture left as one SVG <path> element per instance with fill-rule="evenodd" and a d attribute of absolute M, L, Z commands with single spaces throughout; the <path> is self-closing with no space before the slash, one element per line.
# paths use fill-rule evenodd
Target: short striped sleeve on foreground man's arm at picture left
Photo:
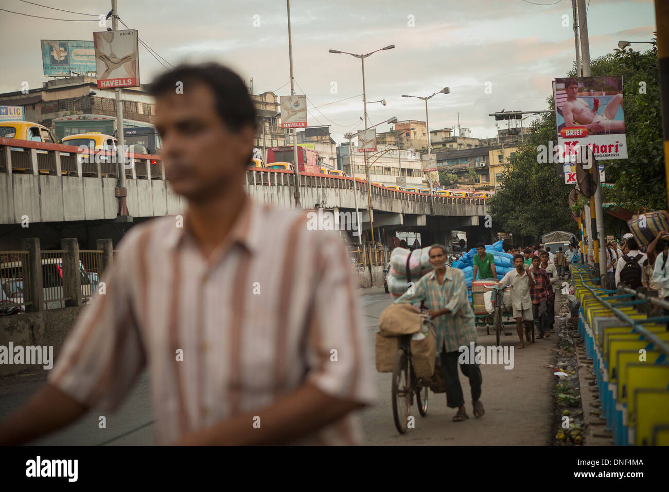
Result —
<path fill-rule="evenodd" d="M 133 231 L 119 244 L 114 264 L 82 308 L 48 378 L 52 386 L 88 407 L 115 410 L 145 366 L 130 293 L 138 233 Z"/>

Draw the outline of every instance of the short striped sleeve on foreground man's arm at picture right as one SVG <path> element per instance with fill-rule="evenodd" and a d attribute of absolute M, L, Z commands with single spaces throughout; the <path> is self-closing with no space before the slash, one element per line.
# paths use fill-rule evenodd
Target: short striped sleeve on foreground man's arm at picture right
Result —
<path fill-rule="evenodd" d="M 307 380 L 330 396 L 372 404 L 376 385 L 346 248 L 329 231 L 310 231 L 308 236 L 317 258 L 307 327 Z"/>

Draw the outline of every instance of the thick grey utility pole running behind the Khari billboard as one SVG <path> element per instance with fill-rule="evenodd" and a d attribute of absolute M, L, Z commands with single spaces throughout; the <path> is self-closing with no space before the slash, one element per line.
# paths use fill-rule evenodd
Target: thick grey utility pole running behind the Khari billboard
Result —
<path fill-rule="evenodd" d="M 583 55 L 583 76 L 591 76 L 590 72 L 590 45 L 587 35 L 587 9 L 585 7 L 585 0 L 579 0 L 579 25 L 581 26 L 581 53 Z M 583 153 L 580 153 L 583 155 Z M 588 149 L 588 181 L 594 187 L 595 173 L 599 173 L 599 165 L 592 155 L 592 149 Z M 599 181 L 599 180 L 598 180 Z M 601 184 L 597 185 L 597 189 L 590 197 L 590 234 L 593 246 L 593 260 L 597 258 L 599 264 L 599 284 L 602 284 L 602 279 L 606 276 L 606 250 L 601 247 L 599 241 L 603 241 L 604 235 L 604 211 L 601 207 Z"/>

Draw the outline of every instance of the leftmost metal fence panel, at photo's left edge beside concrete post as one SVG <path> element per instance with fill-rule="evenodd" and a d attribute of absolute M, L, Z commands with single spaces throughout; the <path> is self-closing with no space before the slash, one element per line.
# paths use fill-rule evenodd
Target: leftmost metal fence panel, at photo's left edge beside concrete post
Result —
<path fill-rule="evenodd" d="M 0 316 L 25 311 L 32 303 L 29 298 L 30 276 L 27 265 L 29 252 L 0 252 Z"/>

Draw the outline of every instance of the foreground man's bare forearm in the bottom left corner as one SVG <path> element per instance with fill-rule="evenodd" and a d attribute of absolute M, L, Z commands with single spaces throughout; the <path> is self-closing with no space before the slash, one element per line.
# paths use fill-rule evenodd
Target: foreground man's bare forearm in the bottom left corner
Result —
<path fill-rule="evenodd" d="M 58 430 L 77 420 L 86 410 L 86 406 L 47 383 L 0 424 L 0 445 L 16 446 Z"/>

